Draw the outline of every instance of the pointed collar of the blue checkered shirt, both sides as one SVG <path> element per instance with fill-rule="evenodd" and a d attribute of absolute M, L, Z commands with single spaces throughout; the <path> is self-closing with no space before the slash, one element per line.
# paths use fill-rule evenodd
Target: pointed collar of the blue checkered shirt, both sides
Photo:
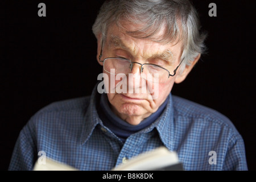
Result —
<path fill-rule="evenodd" d="M 81 144 L 84 144 L 89 137 L 92 135 L 95 127 L 100 124 L 103 126 L 102 121 L 97 113 L 97 102 L 100 102 L 100 94 L 97 91 L 98 84 L 94 86 L 93 92 L 90 96 L 90 103 L 87 111 L 85 112 L 84 125 L 81 133 Z M 174 150 L 174 107 L 172 104 L 172 95 L 170 93 L 167 98 L 168 102 L 166 108 L 163 110 L 163 113 L 158 119 L 146 129 L 141 130 L 139 133 L 148 133 L 154 128 L 159 133 L 159 137 L 162 140 L 164 146 L 168 150 Z"/>

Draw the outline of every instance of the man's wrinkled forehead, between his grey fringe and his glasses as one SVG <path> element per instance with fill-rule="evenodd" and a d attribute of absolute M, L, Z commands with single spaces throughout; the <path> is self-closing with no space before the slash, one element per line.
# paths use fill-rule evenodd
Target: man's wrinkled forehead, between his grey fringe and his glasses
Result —
<path fill-rule="evenodd" d="M 127 22 L 126 22 L 127 23 Z M 113 49 L 122 49 L 134 55 L 144 55 L 145 57 L 154 57 L 166 61 L 175 61 L 181 56 L 183 51 L 181 42 L 179 43 L 159 43 L 155 42 L 162 32 L 152 36 L 151 38 L 134 38 L 127 31 L 135 31 L 139 28 L 133 23 L 124 23 L 122 27 L 116 24 L 109 28 L 108 34 L 104 40 L 105 46 Z M 143 50 L 143 51 L 142 51 Z"/>

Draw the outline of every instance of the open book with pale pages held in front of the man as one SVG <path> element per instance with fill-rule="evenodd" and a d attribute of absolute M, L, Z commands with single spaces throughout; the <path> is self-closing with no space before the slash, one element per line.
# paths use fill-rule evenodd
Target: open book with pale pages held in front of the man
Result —
<path fill-rule="evenodd" d="M 112 169 L 112 171 L 182 171 L 176 152 L 169 151 L 166 147 L 159 147 L 152 151 L 144 152 L 126 163 Z M 46 158 L 44 163 L 35 163 L 34 171 L 78 171 L 67 164 Z"/>

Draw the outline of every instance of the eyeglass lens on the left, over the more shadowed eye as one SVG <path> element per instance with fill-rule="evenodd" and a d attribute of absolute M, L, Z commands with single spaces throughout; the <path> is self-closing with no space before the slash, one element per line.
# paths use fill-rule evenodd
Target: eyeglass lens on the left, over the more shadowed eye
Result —
<path fill-rule="evenodd" d="M 130 73 L 131 62 L 122 58 L 107 58 L 104 61 L 104 70 L 110 74 L 117 75 L 118 73 L 124 73 L 127 75 Z"/>

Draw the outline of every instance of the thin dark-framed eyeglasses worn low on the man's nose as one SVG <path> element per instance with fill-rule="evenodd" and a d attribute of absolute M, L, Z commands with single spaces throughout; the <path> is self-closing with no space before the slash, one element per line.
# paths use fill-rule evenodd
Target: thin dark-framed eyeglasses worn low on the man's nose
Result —
<path fill-rule="evenodd" d="M 121 57 L 120 58 L 107 57 L 104 60 L 101 60 L 101 57 L 102 57 L 102 46 L 101 46 L 101 53 L 99 56 L 99 60 L 101 63 L 103 63 L 104 70 L 110 74 L 118 75 L 121 73 L 121 74 L 127 75 L 133 69 L 134 64 L 139 64 L 141 65 L 141 69 L 140 69 L 141 77 L 147 81 L 158 82 L 158 83 L 167 82 L 170 76 L 175 76 L 177 69 L 180 67 L 180 64 L 184 60 L 184 59 L 181 60 L 180 64 L 176 67 L 176 69 L 174 69 L 174 74 L 171 75 L 167 69 L 160 67 L 159 65 L 156 65 L 156 64 L 148 64 L 148 63 L 141 64 L 141 63 L 134 62 Z M 112 69 L 114 70 L 114 72 L 112 71 Z"/>

